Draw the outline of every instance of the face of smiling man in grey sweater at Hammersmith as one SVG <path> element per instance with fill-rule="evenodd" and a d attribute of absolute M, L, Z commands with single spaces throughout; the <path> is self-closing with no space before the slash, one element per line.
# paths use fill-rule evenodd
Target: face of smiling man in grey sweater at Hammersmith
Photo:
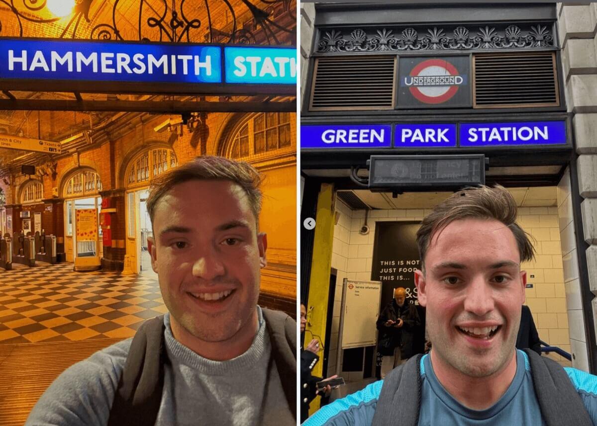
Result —
<path fill-rule="evenodd" d="M 254 332 L 265 234 L 247 195 L 226 180 L 174 186 L 156 204 L 150 243 L 173 322 L 206 342 Z"/>

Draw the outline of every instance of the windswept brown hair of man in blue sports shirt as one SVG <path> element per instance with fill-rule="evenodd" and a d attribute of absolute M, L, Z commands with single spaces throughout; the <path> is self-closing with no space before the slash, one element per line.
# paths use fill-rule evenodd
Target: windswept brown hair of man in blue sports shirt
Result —
<path fill-rule="evenodd" d="M 435 206 L 417 231 L 421 270 L 424 271 L 425 255 L 433 236 L 453 221 L 463 219 L 487 219 L 503 223 L 514 234 L 521 262 L 532 260 L 535 249 L 527 232 L 516 223 L 516 214 L 516 201 L 503 186 L 470 187 L 454 193 Z"/>

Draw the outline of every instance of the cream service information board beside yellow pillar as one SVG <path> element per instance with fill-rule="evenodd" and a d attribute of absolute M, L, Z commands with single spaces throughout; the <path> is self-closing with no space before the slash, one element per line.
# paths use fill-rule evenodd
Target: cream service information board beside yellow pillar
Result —
<path fill-rule="evenodd" d="M 380 300 L 381 282 L 344 279 L 340 317 L 340 341 L 343 349 L 376 344 Z"/>

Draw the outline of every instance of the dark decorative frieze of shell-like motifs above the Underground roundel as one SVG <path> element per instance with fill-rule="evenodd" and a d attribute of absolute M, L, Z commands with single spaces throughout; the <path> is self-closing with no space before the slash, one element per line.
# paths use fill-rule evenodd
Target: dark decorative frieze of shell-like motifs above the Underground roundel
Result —
<path fill-rule="evenodd" d="M 320 29 L 317 53 L 555 47 L 553 24 Z"/>

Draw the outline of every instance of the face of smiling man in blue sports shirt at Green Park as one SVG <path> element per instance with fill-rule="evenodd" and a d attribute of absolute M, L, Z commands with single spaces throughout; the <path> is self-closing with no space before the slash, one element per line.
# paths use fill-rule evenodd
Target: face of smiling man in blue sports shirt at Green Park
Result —
<path fill-rule="evenodd" d="M 527 282 L 512 231 L 496 220 L 454 221 L 432 237 L 424 266 L 415 282 L 432 361 L 475 377 L 503 370 L 514 356 Z"/>

